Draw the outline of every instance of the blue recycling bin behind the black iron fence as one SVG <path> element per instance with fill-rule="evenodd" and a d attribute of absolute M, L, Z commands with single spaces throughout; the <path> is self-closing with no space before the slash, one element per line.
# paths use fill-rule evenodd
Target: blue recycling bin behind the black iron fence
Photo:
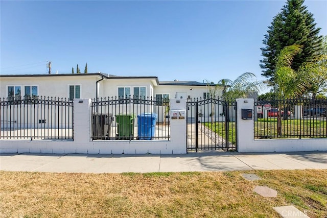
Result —
<path fill-rule="evenodd" d="M 155 124 L 158 115 L 155 113 L 141 113 L 137 115 L 139 140 L 151 140 L 155 133 Z"/>

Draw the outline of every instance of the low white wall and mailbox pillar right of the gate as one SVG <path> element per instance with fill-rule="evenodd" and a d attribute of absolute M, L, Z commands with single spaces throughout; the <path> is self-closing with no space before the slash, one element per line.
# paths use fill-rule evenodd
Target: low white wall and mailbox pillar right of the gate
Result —
<path fill-rule="evenodd" d="M 253 109 L 253 99 L 237 99 L 238 152 L 327 151 L 327 138 L 319 139 L 256 139 L 253 119 L 242 119 L 242 108 Z"/>

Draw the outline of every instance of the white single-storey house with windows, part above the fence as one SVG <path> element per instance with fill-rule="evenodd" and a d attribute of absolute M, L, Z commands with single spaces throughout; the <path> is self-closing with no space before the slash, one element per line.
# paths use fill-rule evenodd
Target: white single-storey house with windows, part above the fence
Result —
<path fill-rule="evenodd" d="M 207 98 L 208 85 L 193 81 L 160 82 L 155 76 L 123 77 L 99 73 L 51 75 L 0 75 L 0 97 L 50 96 L 94 99 L 119 96 L 193 99 Z M 218 88 L 221 96 L 224 86 Z"/>

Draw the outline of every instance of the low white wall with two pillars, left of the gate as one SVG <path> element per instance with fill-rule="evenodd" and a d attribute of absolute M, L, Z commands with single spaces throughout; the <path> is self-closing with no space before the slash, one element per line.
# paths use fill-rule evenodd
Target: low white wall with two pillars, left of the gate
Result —
<path fill-rule="evenodd" d="M 80 101 L 82 101 L 80 103 Z M 172 100 L 173 101 L 173 100 Z M 170 140 L 91 140 L 90 99 L 74 100 L 74 141 L 1 140 L 0 153 L 185 154 L 186 119 L 170 123 Z M 186 107 L 185 101 L 178 104 Z"/>

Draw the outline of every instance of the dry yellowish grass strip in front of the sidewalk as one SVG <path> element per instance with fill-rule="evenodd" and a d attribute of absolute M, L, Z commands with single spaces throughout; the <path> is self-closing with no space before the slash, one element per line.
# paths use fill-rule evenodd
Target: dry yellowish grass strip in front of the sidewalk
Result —
<path fill-rule="evenodd" d="M 263 178 L 247 181 L 244 173 Z M 277 217 L 293 204 L 327 216 L 327 171 L 77 174 L 0 171 L 1 217 Z M 253 192 L 256 185 L 277 198 Z"/>

